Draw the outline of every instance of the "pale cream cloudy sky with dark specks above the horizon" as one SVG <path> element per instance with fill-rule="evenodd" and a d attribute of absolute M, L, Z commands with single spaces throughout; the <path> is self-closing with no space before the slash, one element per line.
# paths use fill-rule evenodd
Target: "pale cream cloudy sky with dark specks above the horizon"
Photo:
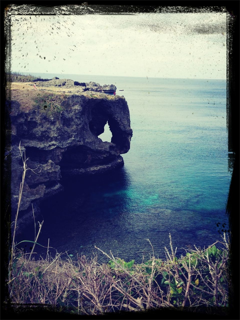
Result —
<path fill-rule="evenodd" d="M 12 71 L 226 79 L 226 13 L 12 15 Z"/>

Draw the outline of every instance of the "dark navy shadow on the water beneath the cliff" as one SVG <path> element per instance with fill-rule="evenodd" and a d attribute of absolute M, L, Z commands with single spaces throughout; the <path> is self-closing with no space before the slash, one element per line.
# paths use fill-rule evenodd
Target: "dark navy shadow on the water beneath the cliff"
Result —
<path fill-rule="evenodd" d="M 63 177 L 64 191 L 41 204 L 44 220 L 38 243 L 49 249 L 52 257 L 57 252 L 67 251 L 71 257 L 85 254 L 91 257 L 96 251 L 94 245 L 109 244 L 109 249 L 118 247 L 120 236 L 119 221 L 128 211 L 126 190 L 131 177 L 124 167 L 104 175 L 89 177 Z M 30 218 L 31 219 L 31 218 Z M 40 222 L 41 222 L 40 218 Z M 37 222 L 37 221 L 36 221 Z M 38 227 L 36 227 L 37 233 Z M 114 232 L 113 232 L 114 230 Z M 34 240 L 34 220 L 22 230 L 18 242 Z M 117 244 L 117 245 L 116 245 Z M 32 243 L 22 243 L 25 252 L 31 250 Z M 106 245 L 104 245 L 104 248 Z M 36 245 L 35 257 L 46 256 L 47 248 Z M 109 252 L 109 250 L 108 250 Z"/>

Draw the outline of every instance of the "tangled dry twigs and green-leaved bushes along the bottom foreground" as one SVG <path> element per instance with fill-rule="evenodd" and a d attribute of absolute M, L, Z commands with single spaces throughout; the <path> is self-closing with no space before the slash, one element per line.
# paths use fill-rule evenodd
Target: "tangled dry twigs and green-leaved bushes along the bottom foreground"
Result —
<path fill-rule="evenodd" d="M 196 248 L 178 258 L 170 235 L 167 259 L 152 255 L 141 264 L 105 252 L 109 262 L 104 264 L 97 256 L 72 261 L 67 254 L 57 254 L 54 259 L 28 261 L 20 253 L 12 262 L 9 297 L 13 307 L 40 304 L 78 315 L 162 307 L 198 311 L 203 306 L 211 313 L 211 307 L 228 306 L 228 243 L 224 236 L 215 243 L 219 248 Z"/>

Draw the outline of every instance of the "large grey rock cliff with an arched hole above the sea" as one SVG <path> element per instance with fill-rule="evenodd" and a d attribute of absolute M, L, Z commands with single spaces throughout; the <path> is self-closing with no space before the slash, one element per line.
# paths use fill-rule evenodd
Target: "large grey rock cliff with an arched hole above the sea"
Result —
<path fill-rule="evenodd" d="M 12 90 L 6 106 L 11 123 L 11 146 L 6 155 L 11 157 L 13 211 L 23 171 L 19 145 L 29 168 L 20 206 L 24 212 L 32 203 L 62 190 L 64 174 L 99 174 L 124 164 L 120 154 L 130 148 L 132 129 L 123 96 Z M 98 138 L 107 122 L 111 142 Z"/>

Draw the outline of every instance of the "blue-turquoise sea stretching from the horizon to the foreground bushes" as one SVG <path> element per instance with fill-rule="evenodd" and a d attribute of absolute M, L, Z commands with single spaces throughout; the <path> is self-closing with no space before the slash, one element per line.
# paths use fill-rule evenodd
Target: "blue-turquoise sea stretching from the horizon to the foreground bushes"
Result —
<path fill-rule="evenodd" d="M 226 80 L 30 74 L 116 85 L 133 131 L 122 168 L 88 178 L 63 176 L 64 191 L 41 204 L 37 242 L 47 247 L 49 240 L 48 254 L 108 261 L 97 246 L 140 263 L 153 250 L 164 259 L 169 234 L 180 255 L 229 232 Z M 99 137 L 111 140 L 108 124 Z M 34 240 L 34 220 L 21 236 Z M 47 248 L 36 245 L 35 252 L 45 258 Z"/>

